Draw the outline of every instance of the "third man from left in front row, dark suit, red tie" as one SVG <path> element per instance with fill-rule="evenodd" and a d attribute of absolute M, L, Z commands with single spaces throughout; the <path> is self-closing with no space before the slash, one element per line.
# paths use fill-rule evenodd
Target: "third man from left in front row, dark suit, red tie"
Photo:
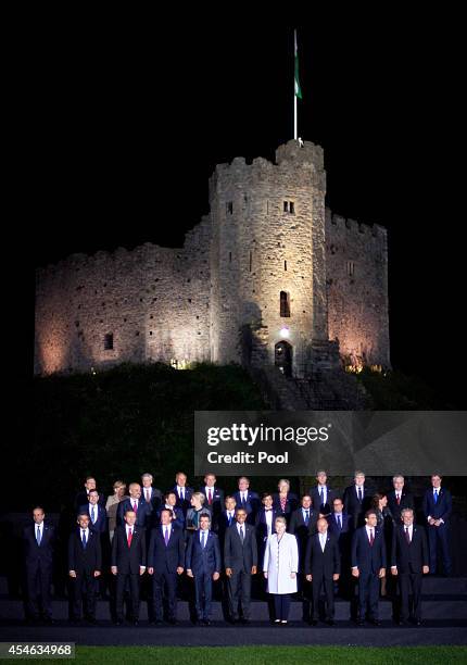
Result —
<path fill-rule="evenodd" d="M 135 511 L 127 510 L 124 526 L 118 526 L 112 540 L 112 575 L 116 576 L 116 625 L 124 622 L 123 602 L 129 582 L 131 620 L 139 622 L 139 579 L 146 570 L 146 530 L 136 524 Z"/>

